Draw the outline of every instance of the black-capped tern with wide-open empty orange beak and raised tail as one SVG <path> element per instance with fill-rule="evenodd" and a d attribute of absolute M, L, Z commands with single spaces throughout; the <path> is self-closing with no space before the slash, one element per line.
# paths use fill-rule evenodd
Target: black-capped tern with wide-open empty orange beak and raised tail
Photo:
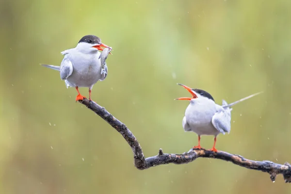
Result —
<path fill-rule="evenodd" d="M 243 100 L 262 93 L 259 92 L 244 97 L 230 104 L 227 104 L 226 101 L 223 100 L 221 106 L 216 104 L 214 98 L 204 90 L 192 89 L 179 83 L 178 85 L 181 85 L 192 94 L 192 97 L 179 97 L 175 100 L 190 100 L 190 104 L 185 111 L 182 126 L 185 131 L 193 131 L 198 135 L 198 146 L 194 146 L 193 148 L 201 149 L 201 135 L 214 135 L 214 145 L 210 149 L 214 152 L 217 152 L 215 148 L 216 136 L 219 133 L 225 134 L 226 132 L 230 132 L 231 107 Z"/>

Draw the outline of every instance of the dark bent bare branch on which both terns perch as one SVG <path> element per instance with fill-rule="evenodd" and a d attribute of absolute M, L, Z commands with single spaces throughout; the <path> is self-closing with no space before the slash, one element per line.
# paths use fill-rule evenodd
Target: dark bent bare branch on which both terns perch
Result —
<path fill-rule="evenodd" d="M 240 155 L 230 154 L 224 151 L 213 152 L 206 149 L 191 149 L 182 154 L 165 154 L 162 152 L 162 149 L 160 149 L 157 156 L 145 158 L 142 147 L 125 124 L 94 101 L 89 102 L 88 99 L 84 99 L 79 102 L 98 114 L 123 136 L 132 149 L 134 165 L 139 170 L 168 163 L 184 164 L 193 162 L 197 158 L 214 158 L 232 162 L 245 168 L 267 172 L 270 174 L 272 181 L 275 181 L 278 174 L 282 174 L 285 182 L 291 182 L 291 164 L 288 162 L 277 164 L 271 161 L 251 161 Z"/>

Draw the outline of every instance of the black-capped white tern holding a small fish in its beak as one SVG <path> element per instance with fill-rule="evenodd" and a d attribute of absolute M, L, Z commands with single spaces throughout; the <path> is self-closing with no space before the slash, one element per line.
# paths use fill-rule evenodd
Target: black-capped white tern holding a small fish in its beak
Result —
<path fill-rule="evenodd" d="M 86 35 L 81 38 L 75 48 L 61 52 L 65 55 L 61 66 L 44 64 L 43 66 L 60 71 L 61 79 L 65 80 L 66 86 L 76 88 L 78 92 L 76 101 L 86 98 L 80 94 L 78 88 L 88 87 L 89 100 L 91 101 L 93 85 L 97 81 L 103 81 L 108 73 L 105 63 L 103 70 L 105 72 L 101 74 L 100 52 L 98 52 L 98 50 L 103 50 L 101 47 L 110 48 L 101 43 L 101 39 L 97 36 Z"/>

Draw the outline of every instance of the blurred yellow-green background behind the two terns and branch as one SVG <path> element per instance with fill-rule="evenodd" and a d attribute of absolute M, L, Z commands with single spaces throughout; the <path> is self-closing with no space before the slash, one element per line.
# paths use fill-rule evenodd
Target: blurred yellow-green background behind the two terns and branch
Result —
<path fill-rule="evenodd" d="M 290 9 L 290 0 L 0 0 L 0 193 L 290 194 L 281 175 L 272 183 L 214 159 L 137 170 L 122 136 L 39 65 L 60 65 L 60 52 L 87 34 L 113 47 L 93 100 L 146 157 L 197 145 L 181 124 L 189 102 L 173 100 L 189 96 L 177 82 L 219 104 L 264 91 L 234 107 L 217 149 L 291 162 Z"/>

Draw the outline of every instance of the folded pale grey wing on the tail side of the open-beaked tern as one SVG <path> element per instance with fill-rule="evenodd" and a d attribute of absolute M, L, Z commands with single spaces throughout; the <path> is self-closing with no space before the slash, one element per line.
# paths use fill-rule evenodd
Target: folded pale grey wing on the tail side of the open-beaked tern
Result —
<path fill-rule="evenodd" d="M 225 134 L 225 132 L 230 132 L 230 119 L 231 117 L 228 111 L 221 111 L 213 115 L 211 123 L 215 129 L 217 129 L 222 134 Z"/>

